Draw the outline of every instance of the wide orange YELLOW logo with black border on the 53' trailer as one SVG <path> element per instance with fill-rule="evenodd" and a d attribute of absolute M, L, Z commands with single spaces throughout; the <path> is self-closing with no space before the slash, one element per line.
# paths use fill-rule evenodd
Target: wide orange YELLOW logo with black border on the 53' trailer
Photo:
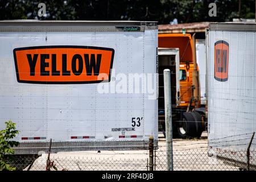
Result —
<path fill-rule="evenodd" d="M 13 50 L 18 82 L 91 84 L 110 81 L 114 49 L 89 46 L 38 46 Z"/>

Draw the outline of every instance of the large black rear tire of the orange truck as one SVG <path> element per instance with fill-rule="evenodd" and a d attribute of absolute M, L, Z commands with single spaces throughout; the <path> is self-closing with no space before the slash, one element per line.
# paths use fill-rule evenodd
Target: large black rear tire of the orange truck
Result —
<path fill-rule="evenodd" d="M 181 138 L 200 138 L 203 132 L 201 115 L 197 112 L 183 113 L 183 119 L 177 125 L 177 132 Z"/>

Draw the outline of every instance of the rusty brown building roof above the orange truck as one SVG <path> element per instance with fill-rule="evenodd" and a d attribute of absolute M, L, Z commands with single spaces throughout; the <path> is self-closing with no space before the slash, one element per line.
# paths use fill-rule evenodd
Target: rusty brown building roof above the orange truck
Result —
<path fill-rule="evenodd" d="M 210 22 L 180 23 L 180 24 L 159 24 L 159 34 L 182 33 L 183 28 L 186 33 L 204 32 L 209 27 Z"/>

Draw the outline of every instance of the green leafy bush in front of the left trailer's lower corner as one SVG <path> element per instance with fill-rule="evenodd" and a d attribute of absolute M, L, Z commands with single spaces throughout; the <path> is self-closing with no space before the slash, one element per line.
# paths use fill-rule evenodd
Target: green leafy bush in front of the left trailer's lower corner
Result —
<path fill-rule="evenodd" d="M 14 150 L 11 147 L 18 146 L 18 142 L 15 142 L 11 139 L 16 137 L 16 134 L 19 133 L 16 130 L 15 123 L 10 120 L 5 122 L 6 129 L 0 131 L 0 170 L 15 170 L 15 167 L 11 167 L 8 163 L 10 160 L 13 160 L 10 154 L 14 154 Z"/>

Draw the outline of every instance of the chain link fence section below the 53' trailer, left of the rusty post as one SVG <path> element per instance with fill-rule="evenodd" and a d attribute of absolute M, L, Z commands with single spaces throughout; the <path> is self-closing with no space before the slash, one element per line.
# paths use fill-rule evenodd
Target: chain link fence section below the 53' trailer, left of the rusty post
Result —
<path fill-rule="evenodd" d="M 48 154 L 33 159 L 19 155 L 13 164 L 18 170 L 45 171 L 47 160 Z M 147 171 L 147 163 L 148 151 L 60 152 L 50 155 L 48 167 L 53 171 Z"/>

